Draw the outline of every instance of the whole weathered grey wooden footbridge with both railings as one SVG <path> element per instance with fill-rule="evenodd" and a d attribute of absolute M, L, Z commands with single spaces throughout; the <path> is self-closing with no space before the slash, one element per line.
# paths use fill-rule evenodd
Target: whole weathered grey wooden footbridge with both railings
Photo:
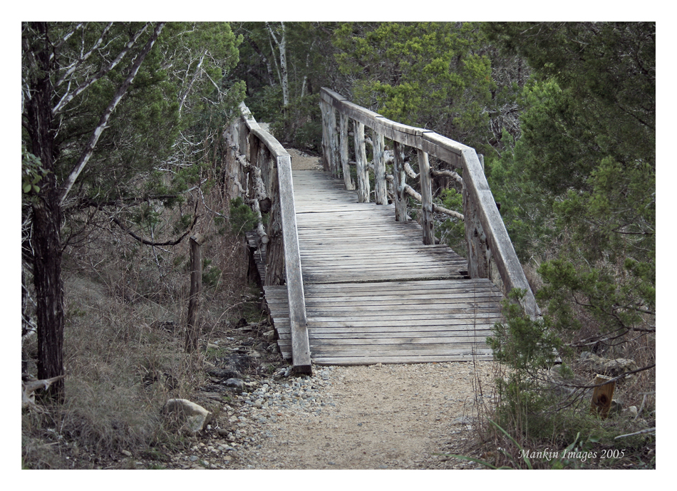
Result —
<path fill-rule="evenodd" d="M 539 311 L 475 150 L 387 120 L 324 88 L 321 109 L 325 172 L 292 171 L 289 153 L 244 104 L 242 117 L 225 133 L 232 149 L 230 190 L 259 217 L 257 231 L 249 234 L 252 267 L 262 280 L 283 356 L 300 373 L 310 373 L 311 361 L 490 358 L 485 340 L 501 319 L 504 293 L 523 289 L 524 310 L 532 317 Z M 348 157 L 350 121 L 354 162 Z M 365 126 L 371 138 L 365 138 Z M 386 138 L 392 152 L 385 150 Z M 366 143 L 372 147 L 371 169 Z M 418 175 L 403 158 L 405 146 L 416 150 Z M 462 170 L 462 177 L 431 169 L 428 155 Z M 462 182 L 463 215 L 433 204 L 434 175 Z M 420 192 L 406 184 L 407 176 Z M 407 215 L 408 196 L 422 203 L 420 224 Z M 465 221 L 467 260 L 435 244 L 434 212 Z M 488 278 L 491 262 L 501 289 Z"/>

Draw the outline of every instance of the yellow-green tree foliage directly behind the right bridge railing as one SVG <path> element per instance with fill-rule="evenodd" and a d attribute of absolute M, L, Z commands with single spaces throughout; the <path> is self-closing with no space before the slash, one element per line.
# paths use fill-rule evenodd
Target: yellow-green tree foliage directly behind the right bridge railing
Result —
<path fill-rule="evenodd" d="M 346 23 L 334 46 L 353 102 L 477 145 L 495 88 L 482 36 L 472 23 Z"/>

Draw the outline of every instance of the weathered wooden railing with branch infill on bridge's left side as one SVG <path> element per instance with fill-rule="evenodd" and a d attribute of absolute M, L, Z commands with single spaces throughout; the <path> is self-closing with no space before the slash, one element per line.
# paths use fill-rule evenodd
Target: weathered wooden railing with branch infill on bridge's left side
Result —
<path fill-rule="evenodd" d="M 289 296 L 292 363 L 296 373 L 311 373 L 301 254 L 296 232 L 291 156 L 254 120 L 244 103 L 240 117 L 226 130 L 232 152 L 227 155 L 229 194 L 242 196 L 259 218 L 259 244 L 267 247 L 264 285 L 285 284 Z M 269 200 L 269 204 L 267 204 Z M 264 229 L 261 209 L 269 207 Z"/>

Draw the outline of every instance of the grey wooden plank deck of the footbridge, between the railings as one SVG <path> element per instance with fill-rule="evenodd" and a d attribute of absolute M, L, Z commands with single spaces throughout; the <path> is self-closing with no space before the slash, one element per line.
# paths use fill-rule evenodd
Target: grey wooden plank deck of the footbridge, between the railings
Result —
<path fill-rule="evenodd" d="M 311 359 L 326 365 L 491 358 L 485 339 L 500 321 L 497 287 L 467 279 L 467 263 L 423 245 L 417 223 L 393 205 L 358 203 L 324 172 L 294 171 L 294 200 Z M 266 301 L 291 358 L 286 286 Z"/>

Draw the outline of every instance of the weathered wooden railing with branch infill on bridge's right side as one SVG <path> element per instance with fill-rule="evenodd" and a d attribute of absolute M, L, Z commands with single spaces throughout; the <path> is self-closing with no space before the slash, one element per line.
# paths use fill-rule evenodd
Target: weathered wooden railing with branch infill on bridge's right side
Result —
<path fill-rule="evenodd" d="M 393 195 L 396 219 L 405 221 L 405 194 L 415 196 L 421 202 L 421 226 L 423 227 L 423 243 L 434 244 L 433 193 L 431 175 L 448 175 L 463 185 L 463 215 L 465 222 L 465 240 L 468 253 L 468 274 L 471 278 L 488 278 L 490 276 L 490 259 L 494 259 L 503 281 L 505 293 L 518 288 L 526 291 L 522 300 L 524 311 L 532 319 L 540 316 L 534 294 L 529 288 L 524 270 L 517 259 L 515 249 L 505 229 L 505 224 L 498 212 L 489 184 L 482 170 L 480 159 L 475 149 L 450 140 L 438 133 L 423 128 L 413 128 L 388 120 L 371 110 L 362 108 L 343 98 L 342 95 L 321 88 L 320 108 L 322 111 L 322 149 L 324 170 L 334 177 L 346 182 L 346 188 L 355 189 L 348 171 L 348 119 L 353 120 L 353 136 L 355 143 L 355 161 L 357 162 L 357 190 L 361 202 L 369 201 L 368 165 L 366 164 L 364 127 L 371 128 L 373 146 L 373 170 L 376 187 L 376 203 L 386 205 L 386 157 L 384 155 L 384 138 L 393 140 Z M 336 125 L 336 113 L 340 125 Z M 420 198 L 412 187 L 406 184 L 407 170 L 405 162 L 401 162 L 403 145 L 418 151 L 420 173 Z M 428 155 L 433 155 L 443 162 L 448 162 L 461 169 L 462 178 L 455 172 L 431 170 Z M 340 160 L 339 160 L 340 159 Z M 350 183 L 350 187 L 348 185 Z M 441 207 L 437 210 L 448 212 Z M 461 218 L 460 214 L 454 216 Z"/>

